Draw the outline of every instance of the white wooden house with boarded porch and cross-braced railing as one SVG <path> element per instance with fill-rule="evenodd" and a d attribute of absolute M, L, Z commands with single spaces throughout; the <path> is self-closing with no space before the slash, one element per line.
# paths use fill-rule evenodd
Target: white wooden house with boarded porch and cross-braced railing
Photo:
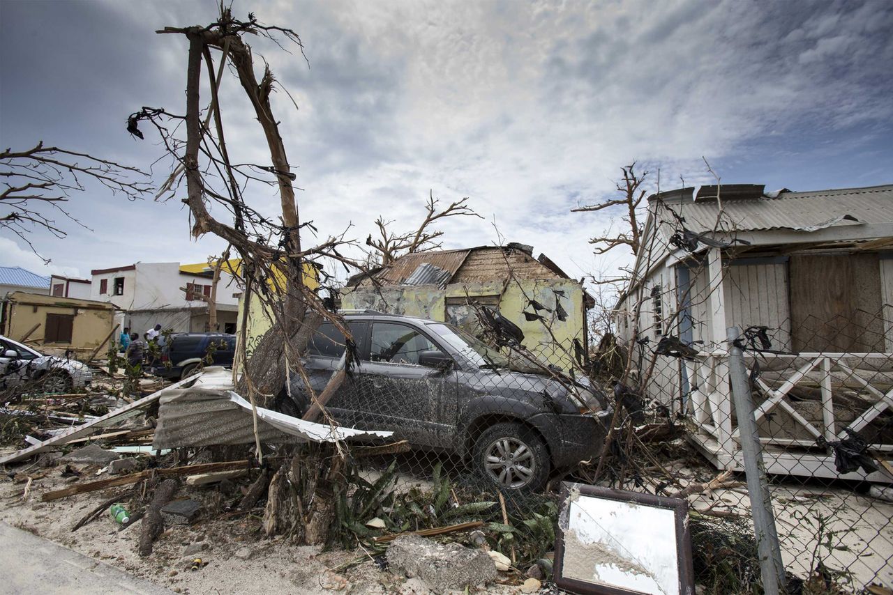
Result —
<path fill-rule="evenodd" d="M 847 430 L 889 457 L 893 186 L 655 194 L 641 245 L 615 313 L 618 338 L 641 362 L 660 354 L 647 396 L 689 419 L 716 467 L 741 460 L 730 326 L 765 327 L 753 333 L 763 330 L 768 343 L 755 339 L 746 360 L 758 366 L 756 420 L 770 472 L 864 478 L 863 470 L 839 475 L 834 451 L 822 447 Z M 755 355 L 766 349 L 779 352 Z"/>

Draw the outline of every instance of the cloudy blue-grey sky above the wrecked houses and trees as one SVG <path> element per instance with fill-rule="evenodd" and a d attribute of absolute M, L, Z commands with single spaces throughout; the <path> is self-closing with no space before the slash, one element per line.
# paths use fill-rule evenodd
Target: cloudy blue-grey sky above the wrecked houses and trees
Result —
<path fill-rule="evenodd" d="M 795 190 L 893 183 L 893 2 L 243 2 L 295 29 L 298 53 L 251 40 L 279 93 L 300 210 L 322 236 L 379 215 L 410 228 L 430 191 L 470 197 L 484 219 L 450 219 L 446 247 L 533 244 L 572 276 L 628 260 L 587 244 L 610 213 L 571 213 L 612 194 L 638 160 L 661 187 Z M 186 42 L 164 26 L 213 21 L 215 3 L 0 0 L 0 145 L 38 140 L 167 173 L 158 139 L 129 136 L 140 106 L 184 112 Z M 233 77 L 223 85 L 235 161 L 264 159 Z M 154 164 L 154 165 L 153 165 Z M 0 265 L 86 276 L 135 261 L 197 262 L 220 241 L 188 236 L 179 202 L 72 194 L 68 237 L 27 245 L 0 232 Z M 249 201 L 274 214 L 257 188 Z M 305 240 L 308 241 L 308 240 Z"/>

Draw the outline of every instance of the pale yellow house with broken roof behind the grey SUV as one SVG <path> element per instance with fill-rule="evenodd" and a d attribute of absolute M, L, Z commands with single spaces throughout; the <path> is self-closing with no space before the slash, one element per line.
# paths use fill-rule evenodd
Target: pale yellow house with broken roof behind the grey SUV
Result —
<path fill-rule="evenodd" d="M 587 311 L 595 304 L 575 279 L 524 244 L 414 252 L 371 275 L 351 277 L 346 310 L 379 310 L 441 320 L 475 335 L 475 307 L 498 310 L 522 329 L 523 344 L 560 368 L 576 339 L 588 341 Z M 560 343 L 562 347 L 556 347 Z"/>

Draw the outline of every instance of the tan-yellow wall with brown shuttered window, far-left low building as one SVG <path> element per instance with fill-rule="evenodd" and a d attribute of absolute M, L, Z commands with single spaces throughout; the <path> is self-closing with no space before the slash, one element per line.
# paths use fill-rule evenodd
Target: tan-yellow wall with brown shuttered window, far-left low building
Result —
<path fill-rule="evenodd" d="M 106 303 L 30 293 L 13 293 L 10 297 L 11 301 L 6 304 L 4 335 L 18 341 L 32 326 L 40 323 L 38 330 L 29 336 L 29 343 L 54 348 L 49 351 L 65 349 L 93 351 L 99 343 L 102 343 L 114 325 L 114 310 Z M 71 323 L 71 343 L 43 341 L 47 313 L 74 315 Z"/>

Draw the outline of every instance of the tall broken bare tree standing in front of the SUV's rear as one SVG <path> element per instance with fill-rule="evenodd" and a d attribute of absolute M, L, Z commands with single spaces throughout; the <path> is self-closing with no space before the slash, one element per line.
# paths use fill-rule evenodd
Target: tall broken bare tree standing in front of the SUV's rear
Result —
<path fill-rule="evenodd" d="M 234 365 L 236 370 L 241 368 L 242 372 L 237 390 L 247 395 L 253 406 L 257 401 L 270 406 L 271 401 L 285 390 L 289 374 L 294 374 L 303 380 L 303 390 L 312 403 L 304 418 L 315 420 L 325 417 L 331 421 L 325 404 L 345 378 L 346 369 L 353 364 L 356 351 L 344 319 L 327 310 L 321 298 L 305 284 L 305 269 L 312 260 L 321 258 L 337 262 L 345 268 L 359 268 L 355 260 L 340 252 L 345 245 L 354 243 L 345 239 L 345 230 L 316 246 L 307 248 L 302 245 L 302 229 L 315 231 L 315 227 L 312 222 L 302 222 L 300 219 L 295 187 L 292 185 L 296 175 L 291 172 L 280 134 L 280 120 L 271 105 L 271 94 L 283 87 L 266 62 L 260 80 L 257 79 L 252 49 L 243 37 L 253 35 L 258 39 L 271 40 L 280 48 L 282 45 L 277 37 L 283 37 L 301 49 L 303 54 L 301 39 L 292 29 L 262 24 L 253 13 L 248 14 L 247 21 L 239 21 L 222 4 L 217 21 L 206 27 L 168 27 L 157 32 L 182 35 L 188 40 L 186 113 L 177 115 L 161 108 L 144 107 L 130 115 L 128 130 L 135 136 L 143 137 L 140 123 L 149 122 L 154 126 L 174 159 L 174 167 L 163 185 L 163 192 L 175 193 L 185 178 L 187 196 L 183 202 L 188 205 L 192 218 L 192 235 L 212 233 L 220 236 L 241 259 L 239 277 L 245 285 L 246 307 L 242 312 L 237 363 Z M 220 58 L 216 70 L 213 51 L 219 53 Z M 230 160 L 218 93 L 224 66 L 228 62 L 252 105 L 254 120 L 263 131 L 270 153 L 269 165 L 236 164 Z M 203 63 L 210 91 L 204 121 L 201 117 Z M 182 135 L 184 129 L 185 139 L 177 136 L 178 133 Z M 245 202 L 243 190 L 249 183 L 264 183 L 278 190 L 278 220 L 264 216 Z M 215 207 L 213 213 L 212 204 Z M 258 298 L 265 310 L 271 313 L 273 325 L 248 357 L 246 317 L 253 297 Z M 323 319 L 330 320 L 338 327 L 345 335 L 347 345 L 340 367 L 323 390 L 316 393 L 301 363 L 301 355 Z M 263 461 L 263 445 L 256 430 L 255 411 L 255 456 Z M 311 443 L 296 447 L 294 459 L 287 461 L 272 476 L 264 474 L 258 480 L 271 483 L 264 517 L 264 527 L 268 533 L 288 531 L 299 541 L 326 541 L 325 533 L 330 526 L 328 521 L 334 513 L 331 499 L 320 494 L 330 490 L 332 483 L 343 480 L 341 471 L 345 465 L 341 445 L 337 445 L 337 450 L 330 446 Z M 296 469 L 304 469 L 305 473 L 313 475 L 313 479 L 298 481 L 294 475 Z M 294 492 L 280 487 L 298 484 L 306 489 L 296 495 L 300 500 L 295 506 Z M 263 493 L 264 485 L 255 487 L 253 493 Z M 312 519 L 320 520 L 314 524 Z M 312 526 L 319 530 L 312 531 Z"/>

